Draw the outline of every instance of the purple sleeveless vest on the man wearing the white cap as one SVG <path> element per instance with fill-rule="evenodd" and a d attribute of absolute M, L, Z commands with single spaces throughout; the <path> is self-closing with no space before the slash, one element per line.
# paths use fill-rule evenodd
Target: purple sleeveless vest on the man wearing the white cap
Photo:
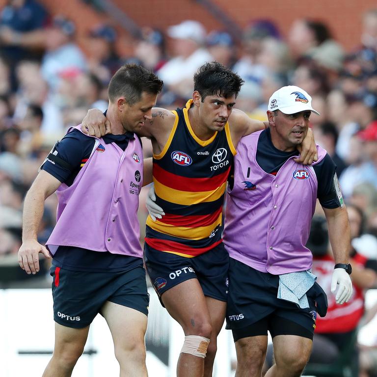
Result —
<path fill-rule="evenodd" d="M 293 158 L 276 176 L 263 171 L 256 161 L 260 133 L 242 137 L 237 147 L 224 244 L 231 258 L 258 271 L 277 275 L 310 269 L 313 258 L 305 244 L 316 206 L 316 174 Z M 317 149 L 320 162 L 326 151 Z"/>

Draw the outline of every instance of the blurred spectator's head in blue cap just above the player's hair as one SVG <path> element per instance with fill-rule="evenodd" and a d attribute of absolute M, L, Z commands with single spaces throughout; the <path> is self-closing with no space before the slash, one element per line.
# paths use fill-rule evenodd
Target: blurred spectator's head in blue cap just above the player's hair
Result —
<path fill-rule="evenodd" d="M 233 38 L 226 31 L 211 31 L 207 36 L 207 49 L 214 61 L 231 68 L 235 63 Z"/>

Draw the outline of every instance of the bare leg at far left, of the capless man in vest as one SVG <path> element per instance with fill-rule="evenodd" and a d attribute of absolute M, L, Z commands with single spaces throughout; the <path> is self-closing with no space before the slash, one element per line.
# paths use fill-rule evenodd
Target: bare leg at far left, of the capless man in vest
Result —
<path fill-rule="evenodd" d="M 71 328 L 55 323 L 54 354 L 42 377 L 69 377 L 81 356 L 89 326 Z"/>

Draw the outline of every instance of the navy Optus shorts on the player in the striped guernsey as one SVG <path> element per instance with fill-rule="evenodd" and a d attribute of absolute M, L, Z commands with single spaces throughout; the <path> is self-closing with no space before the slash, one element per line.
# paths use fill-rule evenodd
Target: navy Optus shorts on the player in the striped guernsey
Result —
<path fill-rule="evenodd" d="M 223 243 L 193 258 L 156 250 L 144 245 L 145 269 L 157 294 L 189 279 L 198 279 L 204 296 L 226 301 L 229 254 Z"/>

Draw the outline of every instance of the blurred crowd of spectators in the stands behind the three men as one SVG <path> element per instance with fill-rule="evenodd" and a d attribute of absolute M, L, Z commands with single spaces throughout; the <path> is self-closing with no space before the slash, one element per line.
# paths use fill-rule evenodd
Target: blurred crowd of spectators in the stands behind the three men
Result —
<path fill-rule="evenodd" d="M 108 82 L 122 64 L 134 62 L 155 72 L 164 82 L 157 106 L 175 109 L 191 98 L 197 68 L 218 61 L 245 81 L 235 107 L 252 118 L 267 120 L 269 97 L 283 85 L 297 85 L 312 95 L 313 108 L 321 113 L 310 118 L 315 139 L 336 163 L 350 206 L 353 259 L 363 277 L 354 284 L 361 291 L 376 288 L 377 9 L 364 14 L 359 45 L 351 52 L 321 21 L 297 19 L 283 38 L 272 22 L 256 20 L 236 44 L 226 30 L 206 30 L 186 20 L 165 30 L 143 28 L 134 54 L 121 56 L 112 26 L 87 30 L 84 53 L 71 20 L 48 14 L 36 1 L 23 7 L 10 4 L 0 12 L 0 264 L 16 256 L 22 243 L 23 199 L 39 166 L 89 108 L 106 110 Z M 150 156 L 145 141 L 144 154 Z M 143 203 L 140 207 L 143 222 L 146 210 Z M 39 242 L 49 238 L 55 211 L 52 196 L 46 201 Z M 360 377 L 377 373 L 377 339 L 374 346 L 360 349 Z"/>

